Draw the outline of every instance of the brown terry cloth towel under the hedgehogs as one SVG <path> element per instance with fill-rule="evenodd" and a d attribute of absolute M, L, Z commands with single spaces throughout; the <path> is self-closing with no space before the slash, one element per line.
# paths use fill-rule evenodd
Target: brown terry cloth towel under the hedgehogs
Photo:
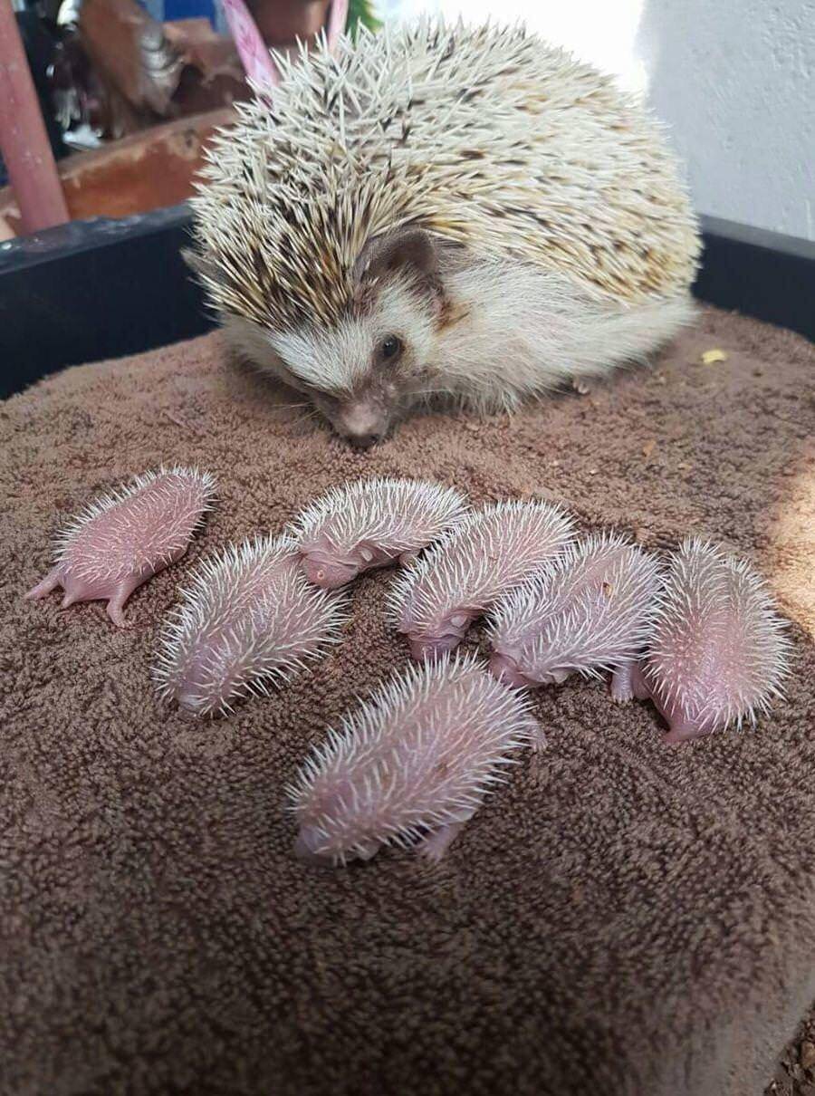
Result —
<path fill-rule="evenodd" d="M 713 347 L 727 359 L 700 364 Z M 651 372 L 515 418 L 423 414 L 365 454 L 229 366 L 218 334 L 8 401 L 3 1094 L 760 1093 L 815 997 L 814 365 L 796 335 L 704 310 Z M 60 523 L 162 461 L 213 471 L 219 502 L 129 627 L 23 602 Z M 559 500 L 651 547 L 724 541 L 793 621 L 789 703 L 669 749 L 651 706 L 570 681 L 536 697 L 549 750 L 440 865 L 301 864 L 286 784 L 406 661 L 390 572 L 354 585 L 312 673 L 228 719 L 159 703 L 157 626 L 203 552 L 375 473 Z"/>

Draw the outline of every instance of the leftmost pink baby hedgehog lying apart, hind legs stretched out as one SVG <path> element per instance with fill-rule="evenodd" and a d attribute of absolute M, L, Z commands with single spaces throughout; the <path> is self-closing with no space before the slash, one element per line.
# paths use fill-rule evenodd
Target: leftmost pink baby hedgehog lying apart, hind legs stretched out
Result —
<path fill-rule="evenodd" d="M 62 607 L 107 602 L 125 626 L 123 607 L 142 582 L 180 559 L 211 509 L 215 480 L 197 468 L 160 468 L 136 476 L 77 515 L 57 540 L 56 566 L 28 598 L 65 590 Z"/>

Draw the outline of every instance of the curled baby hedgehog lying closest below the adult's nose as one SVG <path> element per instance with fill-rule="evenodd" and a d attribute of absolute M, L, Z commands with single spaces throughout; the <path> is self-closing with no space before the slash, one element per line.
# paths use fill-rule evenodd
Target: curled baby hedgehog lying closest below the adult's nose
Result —
<path fill-rule="evenodd" d="M 358 480 L 305 510 L 291 536 L 306 576 L 331 590 L 394 559 L 408 562 L 466 512 L 464 496 L 437 483 Z"/>

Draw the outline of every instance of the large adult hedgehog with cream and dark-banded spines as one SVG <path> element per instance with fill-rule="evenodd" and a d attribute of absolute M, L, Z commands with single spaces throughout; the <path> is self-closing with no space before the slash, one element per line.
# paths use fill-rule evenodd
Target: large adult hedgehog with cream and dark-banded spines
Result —
<path fill-rule="evenodd" d="M 238 353 L 365 447 L 439 395 L 513 409 L 691 315 L 657 124 L 521 28 L 360 30 L 210 145 L 187 255 Z"/>

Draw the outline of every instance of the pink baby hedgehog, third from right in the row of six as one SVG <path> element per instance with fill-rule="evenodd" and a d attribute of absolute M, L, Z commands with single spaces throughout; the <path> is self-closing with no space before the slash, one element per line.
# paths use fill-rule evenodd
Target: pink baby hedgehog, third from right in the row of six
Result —
<path fill-rule="evenodd" d="M 548 502 L 498 502 L 445 534 L 390 592 L 414 659 L 456 648 L 475 617 L 558 556 L 572 525 Z"/>

